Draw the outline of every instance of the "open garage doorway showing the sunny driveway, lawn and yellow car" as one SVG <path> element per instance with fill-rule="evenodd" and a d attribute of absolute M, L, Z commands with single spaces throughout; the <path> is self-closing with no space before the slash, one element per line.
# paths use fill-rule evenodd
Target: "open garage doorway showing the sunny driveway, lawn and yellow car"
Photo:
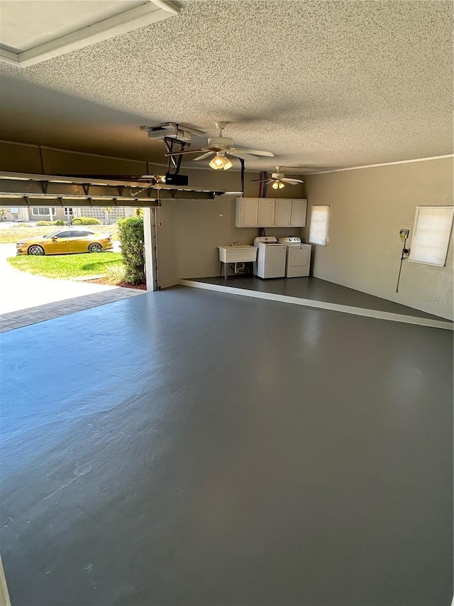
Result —
<path fill-rule="evenodd" d="M 143 222 L 146 284 L 126 283 L 119 224 Z M 158 288 L 155 209 L 0 209 L 0 330 L 19 328 Z"/>

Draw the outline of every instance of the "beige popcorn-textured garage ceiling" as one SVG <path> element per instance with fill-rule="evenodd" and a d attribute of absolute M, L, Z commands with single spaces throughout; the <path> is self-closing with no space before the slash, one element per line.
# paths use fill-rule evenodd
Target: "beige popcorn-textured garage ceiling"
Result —
<path fill-rule="evenodd" d="M 215 135 L 222 119 L 237 146 L 275 153 L 246 163 L 256 170 L 441 156 L 453 153 L 452 32 L 443 0 L 188 0 L 40 65 L 0 65 L 0 138 L 164 161 L 140 124 Z"/>

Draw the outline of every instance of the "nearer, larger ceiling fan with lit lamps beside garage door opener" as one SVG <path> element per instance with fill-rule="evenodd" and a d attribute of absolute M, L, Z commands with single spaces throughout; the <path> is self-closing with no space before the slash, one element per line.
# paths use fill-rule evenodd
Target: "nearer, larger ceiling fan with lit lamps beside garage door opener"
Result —
<path fill-rule="evenodd" d="M 274 158 L 274 153 L 270 151 L 261 151 L 260 149 L 246 149 L 242 147 L 233 147 L 233 139 L 230 137 L 223 136 L 223 129 L 226 128 L 228 122 L 215 122 L 216 129 L 219 130 L 219 134 L 217 137 L 209 137 L 206 147 L 202 147 L 199 149 L 188 149 L 187 151 L 175 151 L 171 153 L 166 153 L 166 156 L 179 156 L 186 155 L 187 153 L 199 153 L 203 152 L 201 156 L 197 156 L 193 158 L 196 160 L 204 160 L 205 158 L 209 158 L 209 156 L 214 156 L 209 163 L 211 168 L 215 170 L 223 169 L 227 171 L 228 168 L 232 168 L 233 164 L 228 156 L 234 156 L 235 158 L 253 158 L 254 156 L 269 156 L 270 158 Z"/>

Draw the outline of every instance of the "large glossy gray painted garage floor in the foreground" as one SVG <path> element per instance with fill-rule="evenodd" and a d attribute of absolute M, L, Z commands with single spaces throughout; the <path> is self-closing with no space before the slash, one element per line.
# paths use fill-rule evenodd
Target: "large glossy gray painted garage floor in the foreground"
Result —
<path fill-rule="evenodd" d="M 14 606 L 450 603 L 448 332 L 177 287 L 0 343 Z"/>

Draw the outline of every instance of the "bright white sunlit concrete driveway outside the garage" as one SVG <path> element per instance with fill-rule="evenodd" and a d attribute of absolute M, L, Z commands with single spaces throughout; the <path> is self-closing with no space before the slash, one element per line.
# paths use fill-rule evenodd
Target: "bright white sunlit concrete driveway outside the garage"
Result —
<path fill-rule="evenodd" d="M 0 314 L 117 288 L 26 274 L 6 261 L 9 256 L 15 255 L 15 244 L 0 244 Z"/>

